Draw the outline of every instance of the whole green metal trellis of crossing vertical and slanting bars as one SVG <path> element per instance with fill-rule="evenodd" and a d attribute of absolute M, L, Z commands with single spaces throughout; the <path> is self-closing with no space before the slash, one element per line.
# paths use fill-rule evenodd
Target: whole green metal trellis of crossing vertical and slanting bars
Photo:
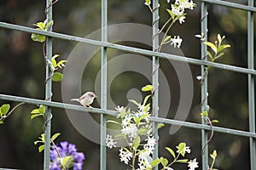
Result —
<path fill-rule="evenodd" d="M 256 12 L 256 8 L 253 6 L 254 1 L 248 0 L 247 5 L 237 4 L 237 3 L 230 3 L 220 0 L 201 0 L 201 32 L 205 35 L 205 39 L 207 40 L 207 5 L 210 3 L 214 3 L 217 5 L 222 5 L 229 8 L 239 8 L 241 10 L 247 11 L 247 68 L 242 68 L 238 66 L 233 65 L 224 65 L 224 64 L 218 64 L 213 63 L 212 67 L 223 69 L 227 71 L 236 71 L 243 74 L 247 74 L 248 77 L 248 114 L 249 114 L 249 132 L 246 131 L 240 131 L 230 128 L 224 128 L 224 127 L 213 127 L 215 132 L 218 133 L 229 133 L 237 136 L 243 136 L 247 137 L 249 139 L 249 148 L 250 148 L 250 162 L 251 162 L 251 169 L 256 169 L 256 123 L 255 123 L 255 94 L 254 94 L 254 77 L 256 75 L 256 71 L 254 70 L 254 36 L 253 36 L 253 14 Z M 46 0 L 46 6 L 49 8 L 46 8 L 46 17 L 47 18 L 53 18 L 52 16 L 52 6 L 49 5 L 51 3 L 51 0 Z M 48 59 L 50 59 L 50 56 L 52 56 L 52 38 L 60 38 L 67 41 L 75 41 L 75 42 L 84 42 L 93 44 L 96 46 L 102 47 L 102 96 L 101 96 L 101 106 L 102 109 L 97 108 L 84 108 L 83 106 L 79 105 L 68 105 L 63 104 L 59 102 L 53 102 L 51 101 L 51 80 L 46 81 L 45 84 L 45 100 L 40 99 L 28 99 L 18 96 L 11 96 L 6 94 L 0 94 L 0 99 L 3 100 L 10 100 L 10 101 L 19 101 L 19 102 L 25 102 L 29 104 L 36 104 L 36 105 L 47 105 L 47 111 L 46 111 L 46 120 L 50 120 L 51 116 L 51 107 L 56 108 L 62 108 L 62 109 L 69 109 L 74 111 L 90 111 L 92 113 L 101 114 L 101 166 L 100 168 L 102 170 L 107 169 L 107 151 L 105 146 L 105 136 L 106 136 L 106 116 L 117 116 L 117 111 L 109 111 L 107 108 L 107 49 L 108 48 L 115 48 L 122 51 L 134 53 L 134 54 L 143 54 L 147 55 L 149 57 L 153 57 L 153 86 L 154 86 L 154 97 L 153 97 L 153 115 L 149 118 L 150 121 L 154 122 L 154 135 L 157 136 L 157 127 L 155 126 L 157 122 L 164 122 L 166 124 L 173 124 L 173 125 L 182 125 L 183 127 L 189 127 L 189 128 L 195 128 L 195 129 L 201 129 L 201 144 L 204 145 L 207 143 L 207 132 L 210 130 L 210 127 L 205 124 L 204 121 L 199 123 L 192 123 L 192 122 L 180 122 L 177 120 L 171 120 L 171 119 L 165 119 L 158 117 L 158 86 L 159 86 L 159 80 L 158 80 L 158 68 L 159 68 L 159 59 L 160 58 L 167 58 L 172 60 L 177 60 L 180 62 L 188 62 L 189 64 L 193 65 L 201 65 L 201 74 L 205 71 L 205 66 L 210 65 L 210 62 L 207 61 L 207 59 L 204 57 L 207 51 L 207 48 L 205 45 L 201 45 L 201 59 L 192 59 L 188 57 L 183 56 L 177 56 L 173 54 L 163 54 L 157 52 L 158 48 L 158 35 L 155 34 L 158 31 L 159 28 L 159 10 L 158 10 L 159 0 L 153 0 L 153 50 L 145 50 L 141 48 L 132 48 L 127 47 L 119 44 L 113 44 L 108 42 L 107 38 L 107 26 L 108 26 L 108 0 L 102 0 L 102 41 L 96 41 L 91 39 L 86 39 L 82 37 L 74 37 L 69 36 L 66 34 L 61 34 L 57 32 L 53 32 L 51 30 L 49 31 L 38 31 L 36 29 L 32 29 L 26 26 L 17 26 L 13 24 L 8 24 L 4 22 L 0 22 L 0 27 L 3 29 L 10 29 L 10 30 L 16 30 L 16 31 L 26 31 L 30 33 L 38 33 L 44 36 L 47 36 L 46 40 L 46 56 L 48 56 Z M 49 65 L 46 66 L 46 79 L 49 77 L 51 72 L 48 68 Z M 201 100 L 202 100 L 202 108 L 207 105 L 207 77 L 205 81 L 203 82 L 201 86 Z M 44 150 L 44 169 L 49 169 L 49 138 L 50 138 L 50 121 L 48 121 L 45 125 L 45 150 Z M 157 147 L 156 147 L 157 148 Z M 158 156 L 158 150 L 154 150 L 154 157 Z M 206 148 L 206 151 L 202 155 L 202 169 L 207 169 L 208 165 L 208 150 Z M 157 169 L 157 168 L 155 168 Z"/>

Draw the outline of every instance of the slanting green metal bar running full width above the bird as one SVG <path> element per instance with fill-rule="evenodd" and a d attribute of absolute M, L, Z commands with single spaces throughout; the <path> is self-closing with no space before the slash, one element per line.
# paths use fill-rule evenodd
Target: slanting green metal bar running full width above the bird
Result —
<path fill-rule="evenodd" d="M 26 26 L 17 26 L 9 23 L 4 23 L 0 22 L 0 27 L 6 28 L 6 29 L 11 29 L 11 30 L 17 30 L 17 31 L 26 31 L 30 33 L 37 33 L 41 34 L 44 36 L 49 36 L 49 37 L 55 37 L 63 40 L 68 40 L 68 41 L 75 41 L 75 42 L 84 42 L 84 43 L 90 43 L 96 46 L 102 46 L 102 47 L 107 47 L 107 48 L 115 48 L 119 49 L 122 51 L 130 52 L 133 54 L 143 54 L 147 56 L 156 56 L 164 59 L 172 59 L 176 60 L 179 62 L 187 62 L 189 64 L 194 64 L 194 65 L 211 65 L 211 62 L 201 60 L 201 59 L 192 59 L 189 57 L 183 57 L 183 56 L 178 56 L 178 55 L 173 55 L 173 54 L 164 54 L 164 53 L 159 53 L 159 52 L 153 52 L 150 50 L 146 49 L 141 49 L 141 48 L 132 48 L 132 47 L 127 47 L 119 44 L 114 44 L 114 43 L 109 43 L 109 42 L 101 42 L 101 41 L 96 41 L 88 38 L 82 38 L 82 37 L 75 37 L 75 36 L 69 36 L 66 34 L 61 34 L 53 31 L 39 31 L 30 27 Z M 247 69 L 239 66 L 233 66 L 233 65 L 224 65 L 224 64 L 219 64 L 219 63 L 212 63 L 212 67 L 227 70 L 227 71 L 236 71 L 236 72 L 241 72 L 241 73 L 246 73 L 246 74 L 253 74 L 256 75 L 256 71 L 253 69 Z"/>

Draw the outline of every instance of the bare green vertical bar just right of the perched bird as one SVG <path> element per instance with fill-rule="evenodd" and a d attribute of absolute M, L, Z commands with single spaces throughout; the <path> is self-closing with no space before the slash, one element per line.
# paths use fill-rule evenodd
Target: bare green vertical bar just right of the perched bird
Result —
<path fill-rule="evenodd" d="M 102 0 L 102 42 L 108 41 L 108 0 Z M 107 48 L 102 47 L 102 81 L 101 81 L 101 105 L 102 109 L 107 109 Z M 107 169 L 107 149 L 106 149 L 107 117 L 101 115 L 101 170 Z"/>

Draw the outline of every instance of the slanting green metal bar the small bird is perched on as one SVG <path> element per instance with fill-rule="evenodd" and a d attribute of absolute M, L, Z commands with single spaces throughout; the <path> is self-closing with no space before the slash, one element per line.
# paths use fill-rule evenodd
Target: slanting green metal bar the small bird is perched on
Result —
<path fill-rule="evenodd" d="M 80 105 L 63 104 L 60 102 L 45 101 L 42 99 L 30 99 L 30 98 L 18 97 L 18 96 L 6 95 L 6 94 L 0 94 L 0 99 L 15 101 L 15 102 L 25 102 L 26 104 L 33 104 L 33 105 L 47 105 L 50 107 L 68 109 L 73 111 L 84 111 L 84 112 L 90 112 L 90 113 L 105 114 L 109 116 L 118 115 L 118 111 L 102 110 L 99 108 L 89 108 L 89 107 L 84 107 Z M 154 116 L 150 116 L 148 120 L 152 122 L 163 122 L 166 124 L 178 125 L 182 127 L 211 130 L 210 126 L 202 125 L 195 122 L 182 122 L 182 121 L 166 119 L 162 117 L 154 117 Z M 214 128 L 214 131 L 218 133 L 228 133 L 228 134 L 233 134 L 237 136 L 251 137 L 256 139 L 256 133 L 249 133 L 247 131 L 235 130 L 235 129 L 225 128 L 225 127 L 213 127 L 213 128 Z"/>

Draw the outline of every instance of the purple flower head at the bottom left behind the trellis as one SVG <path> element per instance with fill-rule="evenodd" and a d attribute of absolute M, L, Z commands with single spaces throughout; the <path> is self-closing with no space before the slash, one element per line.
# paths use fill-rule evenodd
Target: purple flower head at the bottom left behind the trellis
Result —
<path fill-rule="evenodd" d="M 59 151 L 61 158 L 65 158 L 66 156 L 72 156 L 73 158 L 72 161 L 66 165 L 66 169 L 83 169 L 83 163 L 85 159 L 84 153 L 78 152 L 75 144 L 69 144 L 67 141 L 64 141 L 57 145 L 56 148 Z M 62 165 L 57 150 L 55 150 L 55 147 L 52 147 L 49 150 L 49 170 L 61 170 Z"/>

